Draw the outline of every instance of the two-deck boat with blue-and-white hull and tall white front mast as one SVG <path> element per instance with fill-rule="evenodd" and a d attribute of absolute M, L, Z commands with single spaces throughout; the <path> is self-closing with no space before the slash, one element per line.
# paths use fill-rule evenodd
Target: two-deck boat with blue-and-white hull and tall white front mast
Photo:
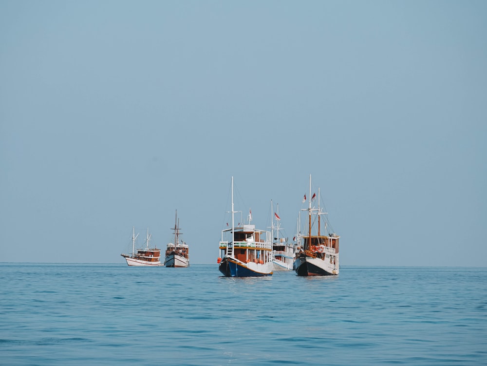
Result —
<path fill-rule="evenodd" d="M 225 277 L 262 277 L 272 275 L 272 236 L 270 231 L 258 230 L 249 209 L 248 224 L 235 226 L 232 176 L 232 226 L 222 230 L 218 269 Z M 228 224 L 227 224 L 228 225 Z"/>

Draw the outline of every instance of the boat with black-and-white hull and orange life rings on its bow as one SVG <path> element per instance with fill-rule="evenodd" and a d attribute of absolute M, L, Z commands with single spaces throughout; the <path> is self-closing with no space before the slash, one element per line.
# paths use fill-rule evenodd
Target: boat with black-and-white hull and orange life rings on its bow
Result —
<path fill-rule="evenodd" d="M 317 208 L 312 207 L 316 200 L 316 193 L 311 196 L 310 174 L 308 208 L 301 210 L 307 211 L 308 225 L 304 228 L 305 232 L 302 235 L 300 234 L 300 227 L 298 228 L 299 248 L 297 248 L 298 252 L 294 262 L 298 276 L 328 276 L 337 275 L 339 272 L 338 241 L 340 236 L 334 232 L 329 232 L 327 212 L 322 211 L 319 206 L 319 199 L 318 189 Z M 304 194 L 304 202 L 306 202 L 306 194 Z M 321 227 L 322 221 L 324 228 Z"/>

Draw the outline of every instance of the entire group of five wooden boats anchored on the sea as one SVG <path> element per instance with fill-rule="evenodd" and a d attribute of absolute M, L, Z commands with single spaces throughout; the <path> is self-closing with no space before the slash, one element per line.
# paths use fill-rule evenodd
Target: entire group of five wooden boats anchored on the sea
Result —
<path fill-rule="evenodd" d="M 304 194 L 302 203 L 307 208 L 298 215 L 298 229 L 292 242 L 280 237 L 281 218 L 279 205 L 274 212 L 271 201 L 270 231 L 260 230 L 252 224 L 252 212 L 249 210 L 247 223 L 235 225 L 233 197 L 233 177 L 231 184 L 231 226 L 227 223 L 222 230 L 217 263 L 225 277 L 260 277 L 270 276 L 274 271 L 295 270 L 298 276 L 328 276 L 339 272 L 338 241 L 339 236 L 331 232 L 327 212 L 320 207 L 320 193 L 311 194 L 311 175 L 308 196 Z M 305 224 L 301 227 L 301 213 L 305 214 Z M 242 220 L 243 221 L 243 220 Z M 174 243 L 167 245 L 164 266 L 189 267 L 189 247 L 180 240 L 179 221 L 173 234 Z M 138 236 L 138 234 L 137 234 Z M 161 266 L 161 250 L 150 248 L 150 234 L 147 231 L 146 248 L 135 250 L 135 230 L 132 230 L 132 254 L 121 254 L 129 266 Z"/>

